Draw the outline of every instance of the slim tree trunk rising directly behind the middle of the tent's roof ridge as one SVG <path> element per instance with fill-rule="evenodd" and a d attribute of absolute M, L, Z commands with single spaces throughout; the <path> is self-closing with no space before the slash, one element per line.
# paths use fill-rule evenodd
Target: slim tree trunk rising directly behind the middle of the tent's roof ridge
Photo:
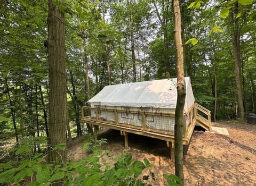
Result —
<path fill-rule="evenodd" d="M 131 2 L 132 3 L 132 2 Z M 133 21 L 132 21 L 132 7 L 129 0 L 127 0 L 127 8 L 129 12 L 129 30 L 130 30 L 130 37 L 131 37 L 131 50 L 132 50 L 132 71 L 133 71 L 133 79 L 132 82 L 137 81 L 137 74 L 136 74 L 136 62 L 135 62 L 135 47 L 134 47 L 134 33 L 133 33 Z"/>

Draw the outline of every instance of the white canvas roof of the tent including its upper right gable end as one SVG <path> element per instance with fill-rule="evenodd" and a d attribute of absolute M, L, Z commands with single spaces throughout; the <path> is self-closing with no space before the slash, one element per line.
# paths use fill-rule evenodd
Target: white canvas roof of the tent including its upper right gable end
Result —
<path fill-rule="evenodd" d="M 185 78 L 185 111 L 194 104 L 190 78 Z M 103 106 L 175 108 L 177 78 L 106 86 L 89 103 Z"/>

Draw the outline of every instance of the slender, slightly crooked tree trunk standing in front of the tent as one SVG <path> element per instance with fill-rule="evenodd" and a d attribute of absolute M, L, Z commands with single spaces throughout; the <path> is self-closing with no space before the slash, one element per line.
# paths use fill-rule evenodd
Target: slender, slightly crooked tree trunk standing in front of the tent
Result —
<path fill-rule="evenodd" d="M 183 110 L 186 98 L 186 84 L 184 78 L 183 66 L 183 44 L 181 39 L 181 17 L 179 0 L 173 0 L 174 13 L 174 41 L 177 54 L 177 105 L 175 109 L 175 125 L 174 125 L 174 157 L 175 157 L 175 175 L 182 180 L 184 185 L 183 173 Z"/>

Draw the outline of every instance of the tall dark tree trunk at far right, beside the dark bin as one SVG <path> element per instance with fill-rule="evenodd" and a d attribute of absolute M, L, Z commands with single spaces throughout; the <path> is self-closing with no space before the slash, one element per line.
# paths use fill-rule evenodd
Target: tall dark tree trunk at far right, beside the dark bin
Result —
<path fill-rule="evenodd" d="M 235 4 L 235 12 L 238 11 L 238 3 Z M 236 15 L 236 13 L 235 13 Z M 244 122 L 244 104 L 243 104 L 243 87 L 242 87 L 242 72 L 241 72 L 241 54 L 240 54 L 240 36 L 239 36 L 239 18 L 234 19 L 234 13 L 230 11 L 229 22 L 231 26 L 231 40 L 233 46 L 233 56 L 235 60 L 235 75 L 238 95 L 238 117 Z"/>

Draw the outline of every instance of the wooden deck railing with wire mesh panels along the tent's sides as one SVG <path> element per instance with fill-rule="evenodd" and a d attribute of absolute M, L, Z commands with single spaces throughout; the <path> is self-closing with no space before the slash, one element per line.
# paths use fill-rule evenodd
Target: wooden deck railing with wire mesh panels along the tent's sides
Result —
<path fill-rule="evenodd" d="M 184 127 L 183 127 L 183 137 L 184 139 L 188 138 L 189 132 L 191 132 L 191 126 L 194 124 L 196 117 L 195 117 L 195 105 L 191 106 L 188 111 L 184 114 L 183 116 L 183 122 L 184 122 Z M 106 113 L 111 113 L 111 121 L 108 120 L 108 117 L 102 116 L 102 112 Z M 136 115 L 137 120 L 139 119 L 138 125 L 134 125 L 131 123 L 124 123 L 120 121 L 121 115 Z M 109 117 L 110 118 L 110 117 Z M 162 128 L 154 128 L 152 126 L 149 126 L 147 121 L 148 119 L 155 118 L 156 122 L 157 119 L 161 120 L 162 123 L 156 123 L 158 125 L 162 125 Z M 157 119 L 156 119 L 157 118 Z M 107 123 L 107 124 L 115 124 L 117 126 L 125 126 L 128 128 L 133 128 L 133 129 L 139 129 L 142 131 L 150 131 L 150 132 L 156 132 L 156 133 L 162 133 L 162 134 L 169 134 L 171 136 L 174 136 L 174 121 L 175 121 L 175 113 L 165 113 L 165 112 L 149 112 L 149 111 L 132 111 L 132 110 L 124 110 L 124 109 L 116 109 L 116 108 L 93 108 L 90 106 L 84 106 L 82 107 L 82 121 L 86 122 L 87 121 L 95 121 L 95 122 L 102 122 L 102 123 Z M 168 123 L 164 121 L 173 121 L 173 126 L 164 126 L 167 125 Z M 169 130 L 166 130 L 169 129 Z M 192 131 L 193 132 L 193 131 Z"/>

